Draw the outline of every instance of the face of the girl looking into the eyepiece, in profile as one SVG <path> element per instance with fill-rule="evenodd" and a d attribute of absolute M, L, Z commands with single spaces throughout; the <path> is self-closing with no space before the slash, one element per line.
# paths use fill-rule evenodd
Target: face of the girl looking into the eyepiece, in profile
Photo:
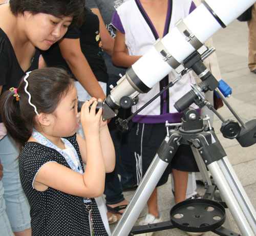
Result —
<path fill-rule="evenodd" d="M 57 137 L 68 137 L 76 133 L 79 126 L 80 113 L 77 112 L 77 92 L 75 85 L 68 91 L 66 96 L 60 100 L 54 115 L 54 135 Z"/>

